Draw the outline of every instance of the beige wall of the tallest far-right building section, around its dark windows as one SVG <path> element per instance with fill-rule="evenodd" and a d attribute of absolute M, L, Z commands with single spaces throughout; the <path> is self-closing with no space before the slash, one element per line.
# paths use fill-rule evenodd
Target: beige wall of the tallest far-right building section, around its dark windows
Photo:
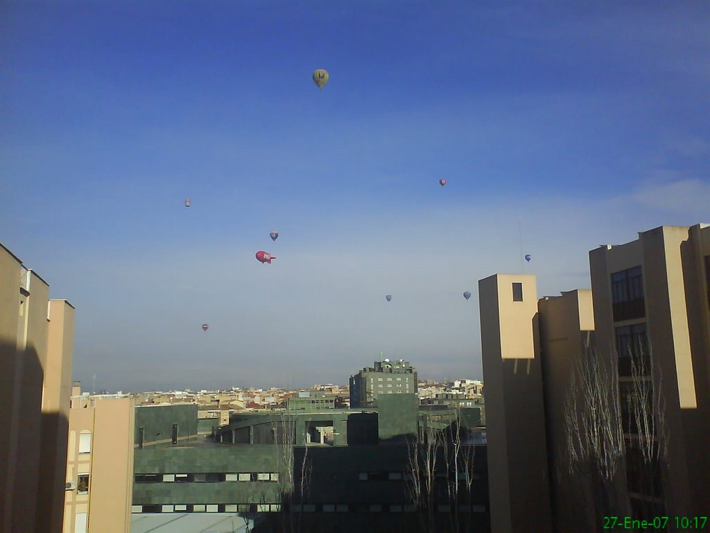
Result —
<path fill-rule="evenodd" d="M 639 239 L 589 253 L 597 345 L 615 349 L 614 328 L 645 322 L 655 364 L 654 385 L 665 399 L 668 432 L 667 515 L 710 508 L 710 319 L 704 256 L 710 228 L 658 227 Z M 643 266 L 645 317 L 614 322 L 613 272 Z"/>

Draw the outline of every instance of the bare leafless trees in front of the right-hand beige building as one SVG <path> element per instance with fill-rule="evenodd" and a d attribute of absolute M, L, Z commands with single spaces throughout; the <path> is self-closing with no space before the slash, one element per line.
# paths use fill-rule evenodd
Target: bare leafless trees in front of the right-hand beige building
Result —
<path fill-rule="evenodd" d="M 588 481 L 601 528 L 603 516 L 630 515 L 634 498 L 643 517 L 665 512 L 667 426 L 662 375 L 645 337 L 608 361 L 587 349 L 571 376 L 564 422 L 567 468 Z M 640 518 L 643 518 L 640 517 Z"/>

